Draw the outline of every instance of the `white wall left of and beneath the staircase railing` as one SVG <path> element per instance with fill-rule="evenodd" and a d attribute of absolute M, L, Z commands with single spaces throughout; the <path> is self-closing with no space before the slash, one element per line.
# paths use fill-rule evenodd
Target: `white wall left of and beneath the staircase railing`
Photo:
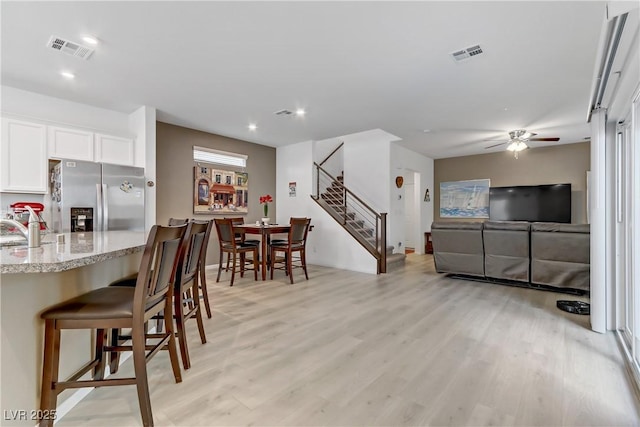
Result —
<path fill-rule="evenodd" d="M 376 273 L 376 260 L 314 200 L 312 141 L 276 151 L 276 199 L 278 223 L 292 216 L 311 218 L 313 231 L 307 240 L 307 263 L 363 273 Z M 289 183 L 296 183 L 296 197 L 289 197 Z"/>

